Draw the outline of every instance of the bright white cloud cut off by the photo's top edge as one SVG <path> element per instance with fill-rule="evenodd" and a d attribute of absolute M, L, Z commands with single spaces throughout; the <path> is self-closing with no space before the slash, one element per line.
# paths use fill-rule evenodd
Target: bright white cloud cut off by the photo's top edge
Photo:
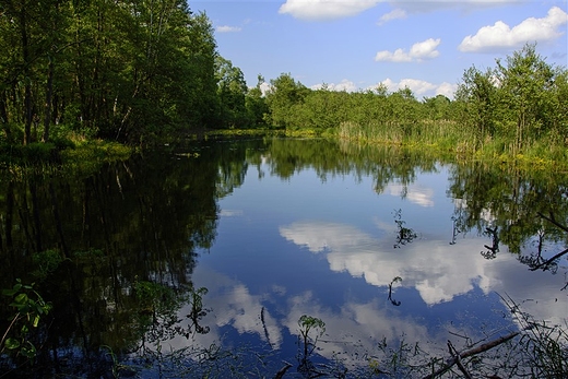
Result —
<path fill-rule="evenodd" d="M 279 13 L 308 21 L 336 20 L 359 14 L 379 2 L 381 0 L 287 0 Z"/>

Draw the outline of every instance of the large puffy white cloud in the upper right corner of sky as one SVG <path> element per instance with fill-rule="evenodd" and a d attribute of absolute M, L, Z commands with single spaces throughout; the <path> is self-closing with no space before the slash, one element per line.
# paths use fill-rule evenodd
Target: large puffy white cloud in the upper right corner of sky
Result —
<path fill-rule="evenodd" d="M 548 42 L 563 35 L 558 27 L 567 22 L 568 14 L 558 7 L 553 7 L 545 17 L 530 17 L 512 28 L 502 21 L 484 26 L 475 35 L 463 38 L 458 48 L 468 52 L 492 51 L 513 49 L 526 43 Z"/>

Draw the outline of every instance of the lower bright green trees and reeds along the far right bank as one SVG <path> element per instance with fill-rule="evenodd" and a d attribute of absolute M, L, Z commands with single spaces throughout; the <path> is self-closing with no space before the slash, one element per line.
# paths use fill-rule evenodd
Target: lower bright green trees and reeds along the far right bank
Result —
<path fill-rule="evenodd" d="M 265 121 L 273 127 L 321 129 L 366 142 L 568 158 L 568 71 L 546 63 L 535 45 L 484 72 L 468 69 L 453 100 L 417 99 L 409 88 L 389 93 L 384 85 L 356 93 L 309 90 L 289 74 L 271 85 Z"/>

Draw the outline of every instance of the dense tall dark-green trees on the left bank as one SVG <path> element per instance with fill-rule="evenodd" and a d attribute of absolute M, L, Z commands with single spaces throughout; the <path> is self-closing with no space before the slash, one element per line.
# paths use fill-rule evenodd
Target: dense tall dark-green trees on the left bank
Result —
<path fill-rule="evenodd" d="M 138 142 L 216 122 L 213 29 L 184 0 L 7 1 L 0 48 L 7 141 Z"/>

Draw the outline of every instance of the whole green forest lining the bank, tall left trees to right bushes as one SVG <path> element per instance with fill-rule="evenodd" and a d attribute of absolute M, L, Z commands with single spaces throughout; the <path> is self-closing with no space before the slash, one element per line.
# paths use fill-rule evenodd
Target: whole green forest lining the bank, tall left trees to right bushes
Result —
<path fill-rule="evenodd" d="M 309 88 L 291 73 L 249 87 L 205 13 L 185 0 L 0 4 L 0 155 L 100 139 L 152 145 L 211 129 L 271 129 L 458 154 L 566 162 L 568 71 L 526 44 L 466 69 L 454 98 L 379 84 Z"/>

